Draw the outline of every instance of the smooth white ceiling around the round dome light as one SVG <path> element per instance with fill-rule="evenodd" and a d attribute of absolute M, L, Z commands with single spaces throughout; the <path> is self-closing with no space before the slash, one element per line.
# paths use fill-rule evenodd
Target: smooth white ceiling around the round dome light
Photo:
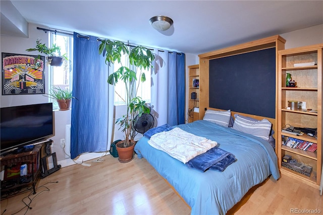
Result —
<path fill-rule="evenodd" d="M 29 23 L 193 54 L 323 24 L 323 1 L 11 2 Z M 156 31 L 157 15 L 174 25 Z"/>

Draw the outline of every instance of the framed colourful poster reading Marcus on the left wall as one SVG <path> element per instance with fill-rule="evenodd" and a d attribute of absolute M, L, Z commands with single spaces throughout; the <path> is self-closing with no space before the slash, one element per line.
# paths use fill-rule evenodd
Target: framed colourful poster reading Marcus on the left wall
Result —
<path fill-rule="evenodd" d="M 44 94 L 44 56 L 2 53 L 2 94 Z"/>

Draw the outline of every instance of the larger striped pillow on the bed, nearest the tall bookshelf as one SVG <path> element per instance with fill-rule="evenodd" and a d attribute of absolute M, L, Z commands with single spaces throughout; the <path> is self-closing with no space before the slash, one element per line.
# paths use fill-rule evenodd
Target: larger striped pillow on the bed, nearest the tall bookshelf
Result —
<path fill-rule="evenodd" d="M 269 135 L 272 129 L 272 123 L 266 119 L 255 121 L 248 119 L 246 117 L 242 117 L 239 115 L 235 115 L 236 119 L 233 124 L 233 129 L 237 131 L 241 131 L 247 134 L 251 134 L 256 137 L 260 137 L 264 140 L 269 139 Z"/>

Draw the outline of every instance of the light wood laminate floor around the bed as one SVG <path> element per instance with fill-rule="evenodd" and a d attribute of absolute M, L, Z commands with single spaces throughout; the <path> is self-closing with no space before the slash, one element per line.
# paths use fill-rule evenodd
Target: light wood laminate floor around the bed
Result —
<path fill-rule="evenodd" d="M 135 156 L 121 164 L 111 155 L 103 158 L 91 167 L 73 165 L 39 180 L 28 211 L 22 202 L 28 193 L 3 199 L 1 214 L 22 208 L 16 214 L 190 214 L 187 204 L 145 159 Z M 319 209 L 323 214 L 322 201 L 319 190 L 283 176 L 250 189 L 228 214 L 291 214 L 291 208 Z"/>

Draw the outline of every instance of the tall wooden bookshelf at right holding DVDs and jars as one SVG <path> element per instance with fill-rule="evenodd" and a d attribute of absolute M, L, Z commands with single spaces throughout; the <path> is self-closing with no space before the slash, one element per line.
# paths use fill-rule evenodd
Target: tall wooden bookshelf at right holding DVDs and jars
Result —
<path fill-rule="evenodd" d="M 278 160 L 282 174 L 319 188 L 322 170 L 322 48 L 323 44 L 280 50 L 278 70 Z M 315 62 L 314 66 L 294 67 L 296 63 Z M 290 73 L 296 87 L 286 87 L 286 74 Z M 288 110 L 288 101 L 305 101 L 306 109 Z M 317 110 L 317 113 L 307 109 Z M 307 134 L 300 136 L 282 132 L 287 125 L 300 128 L 317 128 L 317 139 Z M 283 145 L 284 137 L 317 143 L 315 152 L 303 151 Z M 310 177 L 282 167 L 284 155 L 311 166 Z"/>

